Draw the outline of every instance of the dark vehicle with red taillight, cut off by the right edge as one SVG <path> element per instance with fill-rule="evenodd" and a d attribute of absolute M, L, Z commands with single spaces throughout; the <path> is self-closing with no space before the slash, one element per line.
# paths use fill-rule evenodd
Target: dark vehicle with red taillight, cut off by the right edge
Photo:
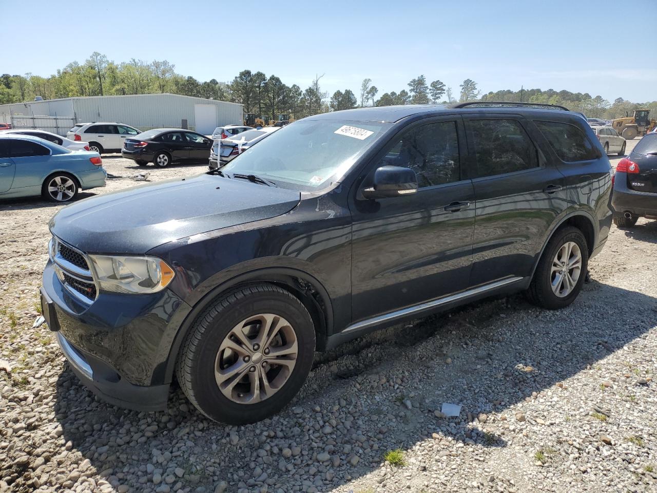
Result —
<path fill-rule="evenodd" d="M 614 223 L 631 227 L 639 218 L 657 219 L 657 133 L 648 133 L 616 166 Z"/>

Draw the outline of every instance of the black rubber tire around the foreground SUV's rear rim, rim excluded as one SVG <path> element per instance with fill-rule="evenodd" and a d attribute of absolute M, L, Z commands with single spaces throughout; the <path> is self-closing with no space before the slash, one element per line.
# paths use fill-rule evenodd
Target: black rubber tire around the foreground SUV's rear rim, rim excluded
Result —
<path fill-rule="evenodd" d="M 576 243 L 581 252 L 581 271 L 573 290 L 567 296 L 560 298 L 552 291 L 552 263 L 557 252 L 567 242 Z M 550 241 L 547 243 L 541 260 L 538 262 L 534 272 L 532 283 L 527 290 L 527 297 L 533 304 L 547 308 L 549 310 L 558 310 L 571 304 L 577 298 L 579 291 L 584 283 L 586 273 L 589 268 L 589 248 L 584 235 L 579 229 L 572 226 L 564 227 L 556 231 Z"/>

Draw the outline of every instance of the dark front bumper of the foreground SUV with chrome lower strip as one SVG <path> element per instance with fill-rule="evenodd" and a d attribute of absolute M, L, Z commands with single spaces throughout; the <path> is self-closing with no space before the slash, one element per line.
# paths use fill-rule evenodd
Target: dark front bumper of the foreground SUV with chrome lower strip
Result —
<path fill-rule="evenodd" d="M 171 344 L 189 306 L 170 290 L 148 295 L 73 296 L 51 261 L 43 271 L 43 314 L 81 383 L 124 408 L 166 408 Z M 175 355 L 172 356 L 175 358 Z"/>

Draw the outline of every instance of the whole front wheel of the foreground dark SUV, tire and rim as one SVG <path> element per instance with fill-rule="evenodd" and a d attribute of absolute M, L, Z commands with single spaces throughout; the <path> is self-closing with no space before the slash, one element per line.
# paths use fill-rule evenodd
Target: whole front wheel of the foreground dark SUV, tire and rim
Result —
<path fill-rule="evenodd" d="M 177 378 L 204 415 L 230 425 L 281 410 L 313 363 L 315 329 L 306 308 L 280 287 L 244 287 L 220 298 L 191 327 Z"/>

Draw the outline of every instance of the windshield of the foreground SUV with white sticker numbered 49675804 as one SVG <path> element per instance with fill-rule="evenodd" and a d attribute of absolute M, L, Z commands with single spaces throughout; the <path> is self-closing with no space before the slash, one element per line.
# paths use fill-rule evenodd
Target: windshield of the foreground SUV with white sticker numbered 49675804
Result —
<path fill-rule="evenodd" d="M 312 192 L 340 179 L 390 124 L 300 120 L 250 147 L 221 168 L 255 174 L 279 187 Z"/>

